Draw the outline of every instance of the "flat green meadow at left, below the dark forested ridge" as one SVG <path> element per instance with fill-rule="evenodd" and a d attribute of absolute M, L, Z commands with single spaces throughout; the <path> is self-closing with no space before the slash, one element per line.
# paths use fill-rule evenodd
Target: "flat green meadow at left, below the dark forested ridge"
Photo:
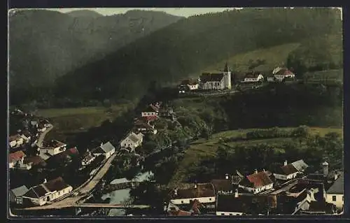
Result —
<path fill-rule="evenodd" d="M 98 127 L 105 120 L 113 120 L 131 108 L 132 104 L 106 107 L 52 108 L 38 110 L 37 115 L 47 117 L 54 128 L 47 134 L 48 140 L 65 141 L 70 134 Z"/>

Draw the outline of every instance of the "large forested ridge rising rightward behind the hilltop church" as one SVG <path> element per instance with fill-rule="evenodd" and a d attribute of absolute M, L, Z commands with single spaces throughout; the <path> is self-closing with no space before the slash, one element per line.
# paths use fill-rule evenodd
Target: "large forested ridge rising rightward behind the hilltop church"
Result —
<path fill-rule="evenodd" d="M 197 15 L 64 75 L 55 93 L 77 99 L 134 99 L 154 80 L 177 81 L 241 52 L 341 29 L 339 10 L 330 8 L 246 8 Z"/>

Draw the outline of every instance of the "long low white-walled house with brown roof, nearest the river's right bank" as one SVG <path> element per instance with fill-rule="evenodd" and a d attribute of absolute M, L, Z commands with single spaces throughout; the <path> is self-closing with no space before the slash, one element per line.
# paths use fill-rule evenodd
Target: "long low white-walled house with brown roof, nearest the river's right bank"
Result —
<path fill-rule="evenodd" d="M 215 189 L 211 183 L 195 184 L 187 189 L 174 189 L 171 202 L 175 205 L 190 204 L 197 199 L 200 203 L 215 203 Z"/>

